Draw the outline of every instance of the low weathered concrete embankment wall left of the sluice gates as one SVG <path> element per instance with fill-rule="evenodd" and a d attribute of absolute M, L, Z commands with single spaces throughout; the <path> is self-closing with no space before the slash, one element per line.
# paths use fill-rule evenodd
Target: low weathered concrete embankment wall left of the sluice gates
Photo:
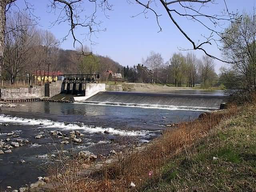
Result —
<path fill-rule="evenodd" d="M 61 91 L 62 81 L 52 82 L 49 85 L 50 97 L 59 94 Z M 0 99 L 28 99 L 42 98 L 45 96 L 45 86 L 20 87 L 20 88 L 3 88 L 0 89 Z"/>

